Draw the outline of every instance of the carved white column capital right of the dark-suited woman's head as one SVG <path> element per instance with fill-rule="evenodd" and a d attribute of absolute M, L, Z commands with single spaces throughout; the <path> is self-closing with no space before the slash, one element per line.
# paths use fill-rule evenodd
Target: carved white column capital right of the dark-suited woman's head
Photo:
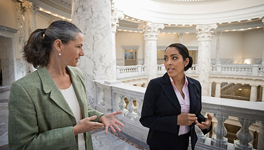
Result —
<path fill-rule="evenodd" d="M 213 38 L 213 30 L 217 28 L 217 25 L 214 24 L 197 24 L 195 27 L 195 33 L 197 34 L 196 38 L 198 41 L 211 41 Z"/>

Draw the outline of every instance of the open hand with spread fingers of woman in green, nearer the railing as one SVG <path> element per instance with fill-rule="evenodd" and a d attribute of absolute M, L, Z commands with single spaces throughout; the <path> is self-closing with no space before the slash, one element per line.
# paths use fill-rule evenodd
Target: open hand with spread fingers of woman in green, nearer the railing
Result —
<path fill-rule="evenodd" d="M 117 124 L 119 124 L 122 127 L 124 127 L 124 124 L 122 124 L 120 121 L 118 121 L 115 118 L 115 115 L 121 114 L 121 113 L 122 113 L 122 111 L 112 112 L 112 113 L 108 113 L 106 115 L 102 115 L 99 118 L 99 121 L 102 122 L 102 123 L 104 123 L 104 125 L 106 127 L 106 131 L 105 131 L 106 134 L 107 134 L 107 131 L 108 131 L 108 127 L 110 127 L 113 132 L 116 132 L 116 130 L 114 129 L 114 127 L 117 129 L 117 131 L 119 131 L 119 132 L 121 131 L 121 129 L 117 126 Z"/>

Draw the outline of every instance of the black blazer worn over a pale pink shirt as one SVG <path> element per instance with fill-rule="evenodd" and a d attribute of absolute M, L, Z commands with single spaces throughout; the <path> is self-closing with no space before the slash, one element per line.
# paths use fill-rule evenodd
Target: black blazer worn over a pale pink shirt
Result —
<path fill-rule="evenodd" d="M 196 114 L 198 121 L 205 121 L 201 114 L 201 84 L 198 80 L 187 77 L 190 94 L 190 113 Z M 181 114 L 181 104 L 175 94 L 169 76 L 163 76 L 149 81 L 142 106 L 140 122 L 149 128 L 147 144 L 158 149 L 177 149 L 180 125 L 177 125 Z M 177 127 L 176 127 L 177 126 Z M 191 124 L 191 143 L 194 149 L 197 135 L 195 123 Z M 212 124 L 211 124 L 212 126 Z M 202 130 L 204 134 L 211 130 Z"/>

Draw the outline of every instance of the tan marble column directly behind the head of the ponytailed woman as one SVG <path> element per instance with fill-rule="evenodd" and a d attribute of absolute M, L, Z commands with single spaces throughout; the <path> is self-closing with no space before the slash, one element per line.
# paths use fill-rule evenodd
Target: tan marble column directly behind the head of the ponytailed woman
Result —
<path fill-rule="evenodd" d="M 39 6 L 36 5 L 33 2 L 25 2 L 23 3 L 23 6 L 25 7 L 25 10 L 28 14 L 28 30 L 29 30 L 29 35 L 37 29 L 37 23 L 36 23 L 36 13 L 39 9 Z M 26 74 L 36 70 L 32 64 L 25 63 L 24 65 Z"/>

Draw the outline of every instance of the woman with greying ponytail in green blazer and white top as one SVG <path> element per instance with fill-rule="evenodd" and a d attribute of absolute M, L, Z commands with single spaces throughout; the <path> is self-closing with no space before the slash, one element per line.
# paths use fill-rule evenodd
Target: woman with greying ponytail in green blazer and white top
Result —
<path fill-rule="evenodd" d="M 89 106 L 84 75 L 75 67 L 82 45 L 81 31 L 67 21 L 31 33 L 24 57 L 38 69 L 11 85 L 10 149 L 93 149 L 91 130 L 124 127 L 115 119 L 122 111 L 104 115 Z"/>

